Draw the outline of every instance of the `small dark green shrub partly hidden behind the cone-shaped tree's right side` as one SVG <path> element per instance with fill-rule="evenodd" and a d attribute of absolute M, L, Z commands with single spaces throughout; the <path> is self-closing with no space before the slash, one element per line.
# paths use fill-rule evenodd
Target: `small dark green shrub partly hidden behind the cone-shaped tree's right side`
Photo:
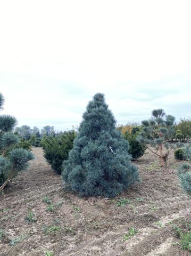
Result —
<path fill-rule="evenodd" d="M 131 129 L 130 132 L 126 131 L 123 134 L 124 139 L 128 140 L 129 142 L 129 154 L 131 154 L 132 159 L 138 159 L 139 157 L 143 156 L 145 153 L 145 147 L 140 145 L 137 141 L 137 136 L 141 131 L 140 126 L 135 126 Z"/>

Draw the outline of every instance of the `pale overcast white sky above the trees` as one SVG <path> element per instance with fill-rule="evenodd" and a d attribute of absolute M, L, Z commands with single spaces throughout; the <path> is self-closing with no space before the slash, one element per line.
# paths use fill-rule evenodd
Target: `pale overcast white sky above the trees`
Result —
<path fill-rule="evenodd" d="M 191 1 L 0 0 L 2 114 L 71 129 L 96 92 L 118 123 L 191 116 Z"/>

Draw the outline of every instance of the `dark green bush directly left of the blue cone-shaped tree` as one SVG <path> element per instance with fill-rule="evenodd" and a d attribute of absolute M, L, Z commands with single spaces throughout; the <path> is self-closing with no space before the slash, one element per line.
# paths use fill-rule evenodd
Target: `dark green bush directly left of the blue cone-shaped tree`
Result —
<path fill-rule="evenodd" d="M 47 162 L 59 174 L 62 172 L 63 161 L 68 159 L 69 151 L 73 148 L 74 138 L 76 132 L 69 131 L 55 136 L 45 136 L 41 140 Z"/>

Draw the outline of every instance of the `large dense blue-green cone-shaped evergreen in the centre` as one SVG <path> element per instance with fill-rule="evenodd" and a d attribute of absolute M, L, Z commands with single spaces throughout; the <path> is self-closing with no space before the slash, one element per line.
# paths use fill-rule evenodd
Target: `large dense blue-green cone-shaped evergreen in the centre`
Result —
<path fill-rule="evenodd" d="M 115 123 L 104 95 L 95 94 L 83 115 L 69 159 L 63 163 L 63 180 L 82 196 L 113 197 L 139 181 L 128 142 Z"/>

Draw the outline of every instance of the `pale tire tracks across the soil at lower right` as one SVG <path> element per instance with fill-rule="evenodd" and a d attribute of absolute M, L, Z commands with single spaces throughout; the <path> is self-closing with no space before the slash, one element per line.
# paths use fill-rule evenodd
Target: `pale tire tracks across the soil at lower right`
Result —
<path fill-rule="evenodd" d="M 162 225 L 166 225 L 169 221 L 176 220 L 178 218 L 186 217 L 190 213 L 191 207 L 188 207 L 187 209 L 181 209 L 179 212 L 172 214 L 170 216 L 162 217 L 159 221 L 162 223 Z M 96 255 L 103 255 L 103 251 L 108 250 L 109 253 L 105 252 L 105 256 L 125 256 L 125 255 L 134 255 L 135 247 L 143 248 L 143 244 L 147 243 L 148 241 L 156 241 L 160 233 L 167 232 L 169 227 L 167 228 L 160 228 L 157 227 L 156 223 L 152 223 L 150 227 L 139 229 L 139 233 L 130 239 L 128 239 L 127 242 L 124 242 L 124 245 L 121 246 L 122 242 L 122 236 L 124 234 L 127 234 L 128 228 L 124 226 L 120 226 L 118 230 L 115 230 L 113 233 L 105 233 L 101 238 L 94 238 L 90 239 L 89 241 L 85 241 L 84 243 L 81 243 L 77 246 L 74 246 L 72 249 L 66 250 L 64 254 L 61 255 L 92 255 L 87 254 L 88 252 L 97 251 Z M 157 234 L 156 234 L 157 233 Z M 165 242 L 161 242 L 159 246 L 157 246 L 157 243 L 154 243 L 151 245 L 152 251 L 148 252 L 147 254 L 142 254 L 143 251 L 140 252 L 140 254 L 136 254 L 136 256 L 139 255 L 146 255 L 146 256 L 158 256 L 163 255 L 168 248 L 171 246 L 171 242 L 173 240 L 172 237 L 164 237 L 166 240 Z M 154 246 L 154 247 L 153 247 Z M 157 246 L 157 247 L 155 247 Z M 111 247 L 113 247 L 113 250 L 111 250 Z M 145 247 L 146 248 L 146 247 Z M 136 251 L 137 248 L 136 248 Z M 78 254 L 77 254 L 78 252 Z M 146 253 L 146 252 L 144 252 Z"/>

